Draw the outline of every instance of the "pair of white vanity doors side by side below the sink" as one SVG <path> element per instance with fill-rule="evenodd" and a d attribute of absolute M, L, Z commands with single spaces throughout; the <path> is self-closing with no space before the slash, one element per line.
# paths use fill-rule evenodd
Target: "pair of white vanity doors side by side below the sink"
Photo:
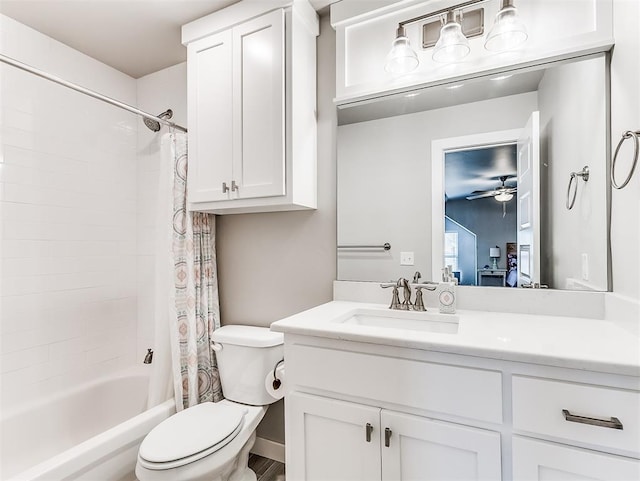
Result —
<path fill-rule="evenodd" d="M 287 403 L 291 479 L 500 479 L 497 432 L 300 393 Z"/>

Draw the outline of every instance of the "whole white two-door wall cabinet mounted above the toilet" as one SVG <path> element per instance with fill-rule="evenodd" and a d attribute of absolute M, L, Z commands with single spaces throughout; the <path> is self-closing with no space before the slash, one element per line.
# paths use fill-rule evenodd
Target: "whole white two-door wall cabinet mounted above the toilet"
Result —
<path fill-rule="evenodd" d="M 316 207 L 317 16 L 250 3 L 183 28 L 190 210 Z"/>

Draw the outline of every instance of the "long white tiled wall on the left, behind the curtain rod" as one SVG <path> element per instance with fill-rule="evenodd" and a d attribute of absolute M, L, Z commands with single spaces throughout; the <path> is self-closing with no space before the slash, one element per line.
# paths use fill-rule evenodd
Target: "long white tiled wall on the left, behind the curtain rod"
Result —
<path fill-rule="evenodd" d="M 124 102 L 136 81 L 7 17 L 0 51 Z M 133 114 L 0 66 L 2 407 L 140 362 Z"/>

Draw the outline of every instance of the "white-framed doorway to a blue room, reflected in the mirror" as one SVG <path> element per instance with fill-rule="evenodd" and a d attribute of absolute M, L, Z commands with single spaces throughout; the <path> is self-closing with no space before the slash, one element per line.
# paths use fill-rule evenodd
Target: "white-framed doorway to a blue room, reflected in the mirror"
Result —
<path fill-rule="evenodd" d="M 475 252 L 468 253 L 476 257 L 476 265 L 459 274 L 460 284 L 517 285 L 517 280 L 507 283 L 507 244 L 517 242 L 517 154 L 514 152 L 521 132 L 520 129 L 504 130 L 432 142 L 434 279 L 441 277 L 442 268 L 446 265 L 444 239 L 445 216 L 448 216 L 476 236 Z M 511 191 L 513 197 L 504 202 L 495 199 L 503 184 L 501 177 L 506 177 L 506 189 L 514 189 Z M 455 178 L 458 181 L 453 180 Z M 467 200 L 467 197 L 474 196 L 473 200 Z M 492 234 L 492 231 L 503 231 L 503 227 L 503 234 Z M 496 255 L 498 253 L 499 256 Z M 460 254 L 459 250 L 458 256 Z"/>

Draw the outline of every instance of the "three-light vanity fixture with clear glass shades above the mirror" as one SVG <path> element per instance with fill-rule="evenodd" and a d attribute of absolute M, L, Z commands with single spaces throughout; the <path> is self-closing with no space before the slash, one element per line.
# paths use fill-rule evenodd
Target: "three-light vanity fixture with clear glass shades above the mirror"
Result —
<path fill-rule="evenodd" d="M 439 16 L 443 16 L 444 21 L 432 53 L 433 60 L 441 63 L 453 63 L 466 57 L 471 51 L 468 37 L 484 33 L 484 10 L 482 8 L 470 10 L 468 15 L 465 14 L 464 17 L 463 11 L 472 5 L 486 1 L 488 0 L 468 0 L 398 23 L 396 37 L 387 55 L 385 70 L 394 75 L 404 75 L 418 68 L 420 61 L 416 51 L 411 47 L 406 26 Z M 484 44 L 487 50 L 493 52 L 516 48 L 527 40 L 527 32 L 517 14 L 513 4 L 514 0 L 500 1 L 501 9 L 496 15 L 495 24 Z M 463 22 L 467 16 L 470 22 Z M 423 23 L 421 29 L 423 48 L 430 48 L 434 45 L 434 28 L 437 23 L 437 21 Z"/>

